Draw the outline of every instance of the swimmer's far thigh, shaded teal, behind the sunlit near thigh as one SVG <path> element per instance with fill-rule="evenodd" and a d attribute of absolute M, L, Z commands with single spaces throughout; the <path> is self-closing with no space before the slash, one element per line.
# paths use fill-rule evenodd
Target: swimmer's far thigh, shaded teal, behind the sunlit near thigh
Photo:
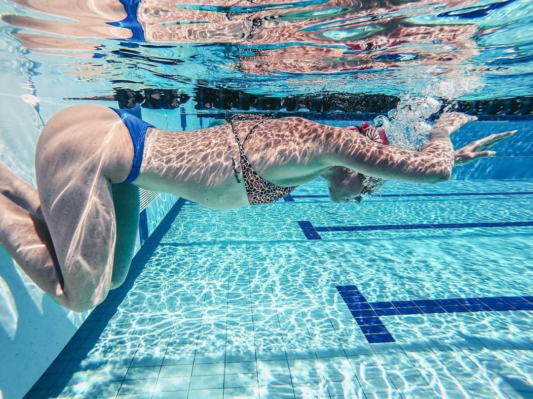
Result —
<path fill-rule="evenodd" d="M 112 185 L 117 221 L 115 260 L 111 289 L 121 285 L 130 270 L 139 231 L 139 188 L 131 184 Z"/>

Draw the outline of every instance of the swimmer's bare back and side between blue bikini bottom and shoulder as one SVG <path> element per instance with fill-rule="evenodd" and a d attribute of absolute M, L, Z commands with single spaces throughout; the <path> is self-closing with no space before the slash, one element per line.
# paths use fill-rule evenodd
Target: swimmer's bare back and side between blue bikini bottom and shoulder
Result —
<path fill-rule="evenodd" d="M 302 118 L 233 122 L 247 160 L 278 186 L 320 175 L 324 125 Z M 331 127 L 335 130 L 338 128 Z M 248 205 L 239 146 L 230 123 L 185 132 L 149 129 L 134 184 L 183 196 L 215 209 Z"/>

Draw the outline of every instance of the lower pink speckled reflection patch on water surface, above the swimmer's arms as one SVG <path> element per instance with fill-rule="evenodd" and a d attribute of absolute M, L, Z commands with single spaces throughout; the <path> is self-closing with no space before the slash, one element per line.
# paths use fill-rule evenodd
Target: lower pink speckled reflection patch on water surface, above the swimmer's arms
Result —
<path fill-rule="evenodd" d="M 348 49 L 306 44 L 257 49 L 253 51 L 253 55 L 239 56 L 236 68 L 245 73 L 271 74 L 277 71 L 331 73 L 389 69 L 413 64 L 453 66 L 476 53 L 475 42 L 470 39 L 475 32 L 474 26 L 439 28 L 441 43 L 453 45 L 454 51 L 449 51 L 449 45 L 417 45 L 416 35 L 421 38 L 431 36 L 434 28 L 402 28 L 389 36 L 392 39 L 376 36 L 366 42 L 347 44 Z M 410 39 L 395 39 L 406 37 Z M 450 40 L 444 40 L 445 37 Z M 456 41 L 451 40 L 452 38 Z M 419 43 L 423 41 L 424 39 L 420 39 Z"/>

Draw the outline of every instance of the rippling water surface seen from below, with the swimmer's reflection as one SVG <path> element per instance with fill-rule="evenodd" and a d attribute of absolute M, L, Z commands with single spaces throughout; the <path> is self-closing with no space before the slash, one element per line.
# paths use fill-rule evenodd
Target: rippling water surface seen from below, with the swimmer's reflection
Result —
<path fill-rule="evenodd" d="M 529 0 L 72 2 L 0 5 L 2 67 L 41 104 L 112 88 L 491 99 L 533 87 Z"/>

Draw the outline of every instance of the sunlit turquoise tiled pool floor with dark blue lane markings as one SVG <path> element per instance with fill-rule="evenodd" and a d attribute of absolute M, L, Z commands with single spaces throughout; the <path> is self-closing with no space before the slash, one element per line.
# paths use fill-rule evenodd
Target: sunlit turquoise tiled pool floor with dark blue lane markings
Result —
<path fill-rule="evenodd" d="M 533 180 L 381 194 L 180 199 L 26 397 L 533 397 Z"/>

